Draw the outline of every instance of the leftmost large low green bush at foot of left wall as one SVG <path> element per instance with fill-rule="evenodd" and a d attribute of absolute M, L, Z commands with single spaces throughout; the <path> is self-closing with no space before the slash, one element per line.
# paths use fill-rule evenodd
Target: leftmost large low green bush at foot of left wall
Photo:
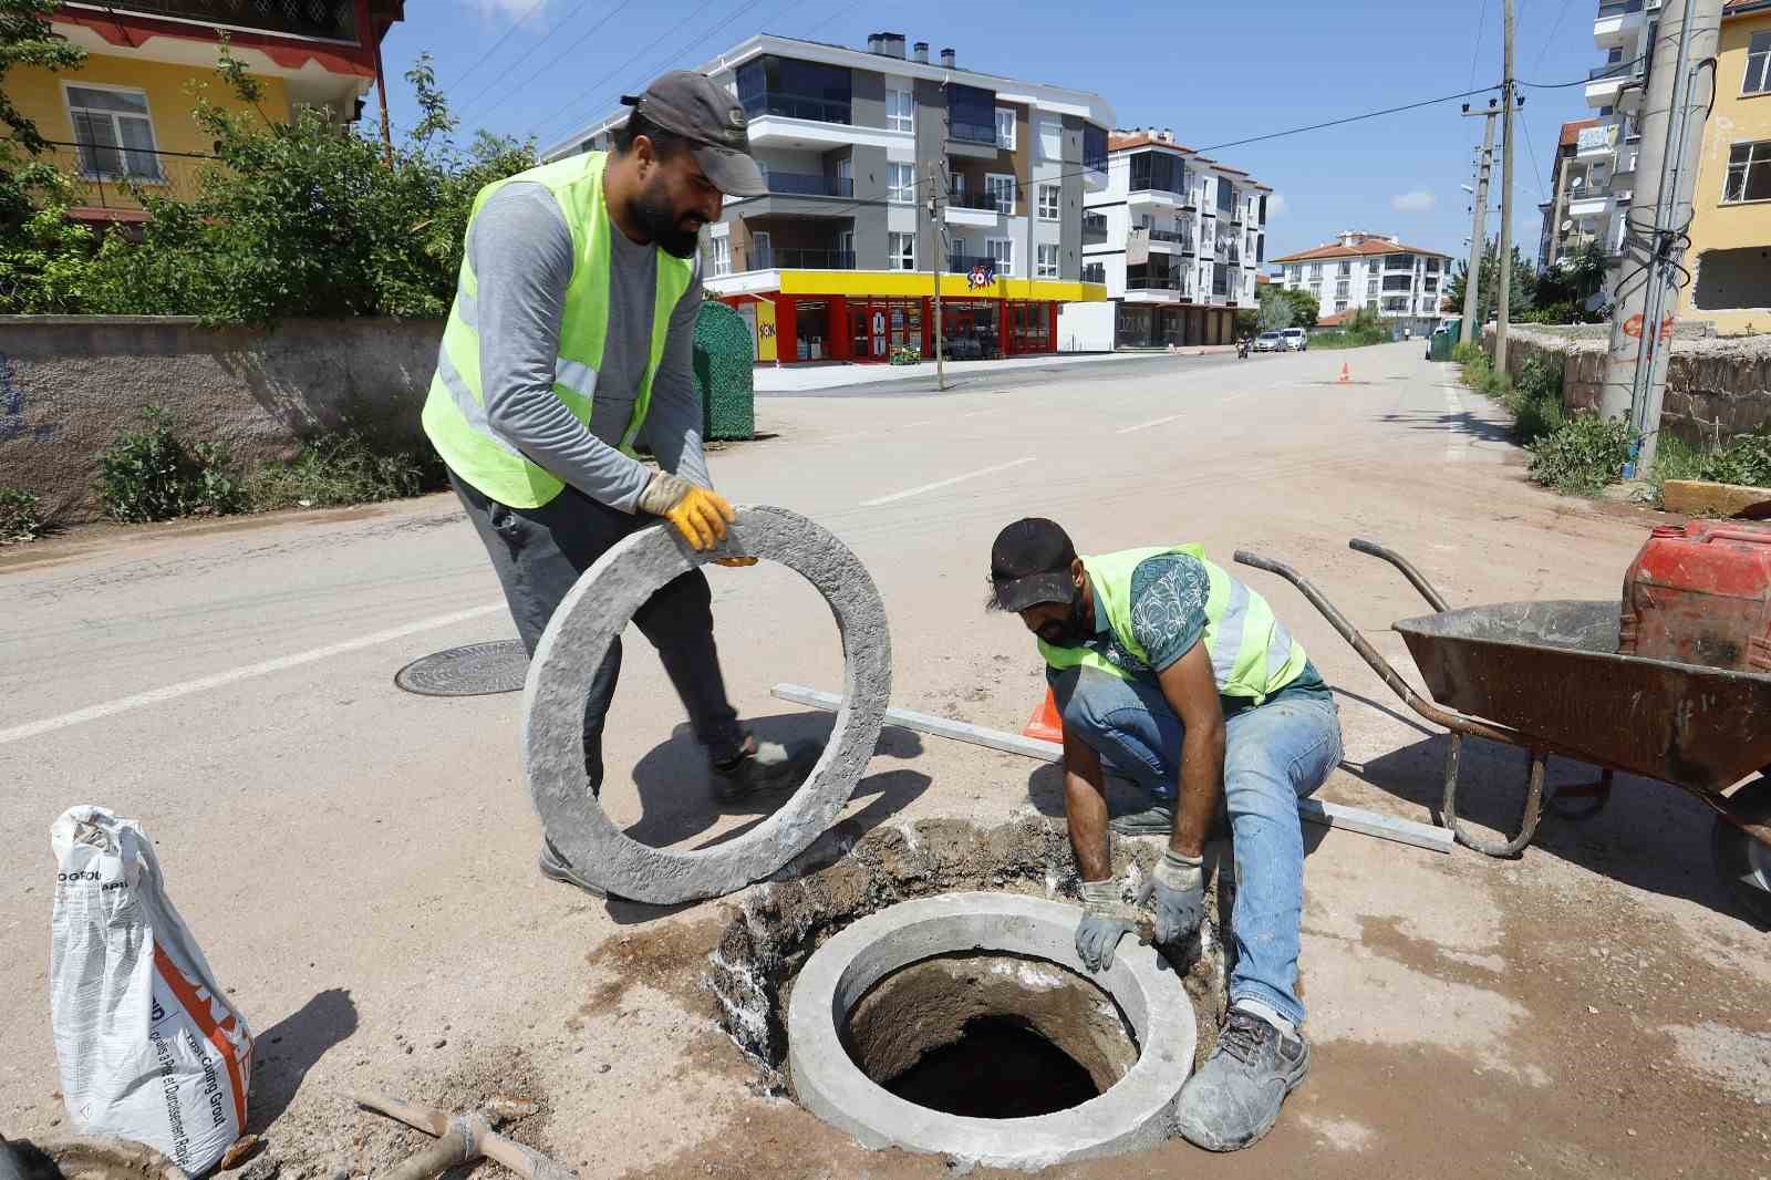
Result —
<path fill-rule="evenodd" d="M 99 498 L 112 519 L 131 524 L 246 510 L 244 489 L 228 475 L 227 446 L 186 450 L 158 406 L 142 411 L 140 431 L 119 434 L 99 455 Z"/>

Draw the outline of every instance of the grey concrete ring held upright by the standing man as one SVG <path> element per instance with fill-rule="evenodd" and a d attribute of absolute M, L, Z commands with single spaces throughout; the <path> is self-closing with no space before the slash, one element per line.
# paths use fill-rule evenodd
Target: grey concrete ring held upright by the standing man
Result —
<path fill-rule="evenodd" d="M 866 567 L 786 508 L 746 507 L 737 516 L 726 540 L 701 553 L 666 524 L 616 542 L 560 602 L 522 689 L 524 769 L 547 838 L 579 873 L 634 902 L 723 897 L 804 852 L 841 815 L 886 721 L 891 634 Z M 781 562 L 829 602 L 843 641 L 843 707 L 811 778 L 774 815 L 712 849 L 653 849 L 625 836 L 590 792 L 584 700 L 609 643 L 653 592 L 696 565 L 733 556 Z M 696 778 L 682 790 L 705 792 L 707 783 Z"/>

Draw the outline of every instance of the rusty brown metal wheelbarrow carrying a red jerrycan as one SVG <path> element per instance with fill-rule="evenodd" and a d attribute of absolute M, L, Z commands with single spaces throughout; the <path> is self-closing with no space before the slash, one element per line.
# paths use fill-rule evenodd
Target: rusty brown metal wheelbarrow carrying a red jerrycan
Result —
<path fill-rule="evenodd" d="M 1371 540 L 1348 544 L 1399 569 L 1436 611 L 1394 624 L 1433 700 L 1397 675 L 1295 569 L 1245 551 L 1236 562 L 1296 586 L 1410 709 L 1450 730 L 1440 811 L 1459 843 L 1488 856 L 1516 856 L 1537 833 L 1546 804 L 1564 819 L 1589 819 L 1610 799 L 1619 771 L 1659 780 L 1716 813 L 1716 872 L 1753 918 L 1771 925 L 1771 675 L 1619 656 L 1617 601 L 1450 609 L 1403 556 Z M 1530 755 L 1525 810 L 1511 840 L 1488 840 L 1458 822 L 1465 737 Z M 1599 780 L 1562 787 L 1546 799 L 1551 755 L 1597 767 Z M 1727 794 L 1755 771 L 1764 776 Z"/>

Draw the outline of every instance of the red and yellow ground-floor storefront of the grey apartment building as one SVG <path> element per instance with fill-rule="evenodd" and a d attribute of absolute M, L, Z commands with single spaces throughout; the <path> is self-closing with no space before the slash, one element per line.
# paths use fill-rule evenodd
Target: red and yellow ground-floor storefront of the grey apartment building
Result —
<path fill-rule="evenodd" d="M 1057 307 L 1105 298 L 1100 283 L 1001 278 L 994 287 L 995 292 L 979 292 L 965 276 L 942 276 L 940 333 L 947 360 L 1056 353 Z M 886 363 L 903 349 L 923 358 L 935 354 L 928 275 L 781 271 L 779 289 L 737 291 L 717 278 L 708 280 L 708 289 L 753 326 L 760 363 Z"/>

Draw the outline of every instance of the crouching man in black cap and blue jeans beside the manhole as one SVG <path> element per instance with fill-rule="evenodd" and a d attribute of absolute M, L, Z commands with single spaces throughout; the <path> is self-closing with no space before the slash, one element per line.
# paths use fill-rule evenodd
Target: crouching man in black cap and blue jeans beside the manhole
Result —
<path fill-rule="evenodd" d="M 990 551 L 990 606 L 1036 636 L 1064 726 L 1064 813 L 1082 877 L 1077 953 L 1094 971 L 1151 907 L 1156 941 L 1204 918 L 1204 845 L 1234 843 L 1236 966 L 1217 1049 L 1176 1098 L 1192 1143 L 1229 1152 L 1279 1120 L 1309 1072 L 1298 1001 L 1303 833 L 1298 799 L 1341 762 L 1334 696 L 1266 601 L 1199 546 L 1077 556 L 1056 523 L 1024 519 Z M 1109 815 L 1103 767 L 1144 801 Z M 1135 904 L 1110 831 L 1165 838 Z"/>

